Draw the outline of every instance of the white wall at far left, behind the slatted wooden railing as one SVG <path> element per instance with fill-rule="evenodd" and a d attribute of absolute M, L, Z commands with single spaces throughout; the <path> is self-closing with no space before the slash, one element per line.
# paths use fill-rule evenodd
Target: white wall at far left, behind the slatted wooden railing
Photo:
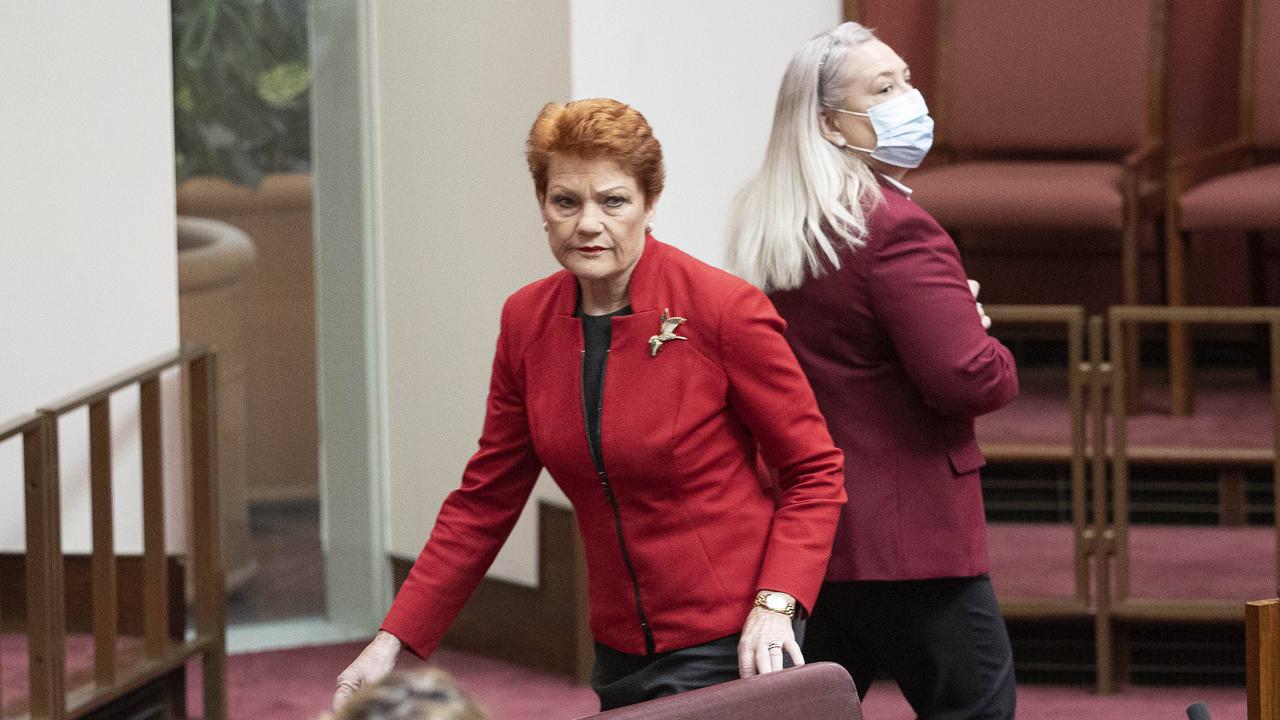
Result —
<path fill-rule="evenodd" d="M 178 345 L 169 56 L 165 0 L 0 4 L 0 421 Z M 137 552 L 137 393 L 115 400 L 116 547 Z M 68 551 L 88 547 L 86 427 L 60 427 Z M 0 551 L 23 546 L 19 445 Z"/>

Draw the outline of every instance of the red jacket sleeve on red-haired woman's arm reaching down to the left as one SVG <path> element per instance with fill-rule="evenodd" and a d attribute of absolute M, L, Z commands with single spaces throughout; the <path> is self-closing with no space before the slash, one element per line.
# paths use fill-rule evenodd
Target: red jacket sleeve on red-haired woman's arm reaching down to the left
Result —
<path fill-rule="evenodd" d="M 508 347 L 507 314 L 504 309 L 480 448 L 467 461 L 462 486 L 440 507 L 381 625 L 424 659 L 493 564 L 541 470 L 529 436 L 518 360 Z"/>

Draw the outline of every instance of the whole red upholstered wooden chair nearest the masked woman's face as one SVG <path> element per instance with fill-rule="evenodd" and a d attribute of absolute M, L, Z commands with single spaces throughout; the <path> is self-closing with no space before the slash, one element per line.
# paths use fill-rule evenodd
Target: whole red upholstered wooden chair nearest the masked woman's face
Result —
<path fill-rule="evenodd" d="M 1160 210 L 1165 0 L 940 0 L 931 164 L 915 200 L 965 229 L 1111 231 L 1139 300 Z M 1152 232 L 1152 240 L 1155 233 Z"/>

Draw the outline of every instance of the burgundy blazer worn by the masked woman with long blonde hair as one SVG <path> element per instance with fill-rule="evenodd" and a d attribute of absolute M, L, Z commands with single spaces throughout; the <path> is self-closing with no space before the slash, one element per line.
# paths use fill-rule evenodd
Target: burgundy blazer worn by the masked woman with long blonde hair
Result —
<path fill-rule="evenodd" d="M 977 575 L 987 533 L 973 419 L 1016 397 L 1018 375 L 982 328 L 955 243 L 882 190 L 865 247 L 772 296 L 849 468 L 827 579 Z"/>

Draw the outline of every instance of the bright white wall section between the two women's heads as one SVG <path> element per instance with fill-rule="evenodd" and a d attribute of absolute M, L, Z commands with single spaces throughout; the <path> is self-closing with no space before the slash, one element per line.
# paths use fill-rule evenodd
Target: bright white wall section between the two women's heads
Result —
<path fill-rule="evenodd" d="M 724 265 L 730 201 L 764 159 L 791 54 L 841 20 L 837 0 L 579 0 L 573 97 L 614 97 L 662 142 L 654 236 Z"/>

